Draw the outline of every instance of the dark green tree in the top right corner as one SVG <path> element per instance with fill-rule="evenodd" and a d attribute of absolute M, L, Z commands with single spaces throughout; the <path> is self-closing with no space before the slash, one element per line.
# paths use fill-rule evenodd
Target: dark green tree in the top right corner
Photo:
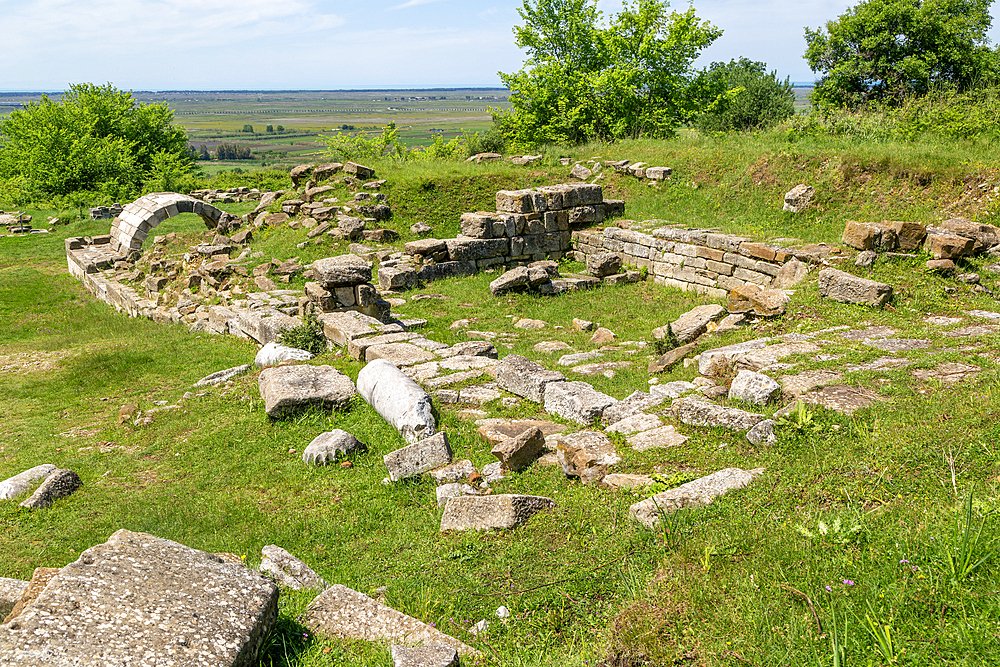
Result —
<path fill-rule="evenodd" d="M 817 106 L 898 106 L 934 86 L 968 90 L 997 73 L 991 0 L 863 0 L 826 29 L 806 28 L 806 61 L 822 76 Z"/>

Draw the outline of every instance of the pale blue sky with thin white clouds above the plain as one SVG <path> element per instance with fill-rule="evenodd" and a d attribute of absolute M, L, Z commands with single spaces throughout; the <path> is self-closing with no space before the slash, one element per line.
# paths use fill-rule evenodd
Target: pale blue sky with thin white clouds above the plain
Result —
<path fill-rule="evenodd" d="M 614 12 L 620 0 L 600 0 Z M 811 81 L 803 28 L 852 2 L 697 0 L 723 29 L 699 61 L 747 56 Z M 520 69 L 519 0 L 0 0 L 0 90 L 497 86 Z M 686 3 L 673 2 L 683 10 Z M 994 29 L 993 39 L 1000 38 Z"/>

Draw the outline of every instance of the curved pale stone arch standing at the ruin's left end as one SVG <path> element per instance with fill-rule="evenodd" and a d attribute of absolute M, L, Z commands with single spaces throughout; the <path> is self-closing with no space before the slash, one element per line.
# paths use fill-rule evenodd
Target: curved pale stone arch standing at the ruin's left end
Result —
<path fill-rule="evenodd" d="M 141 250 L 156 226 L 178 213 L 201 216 L 205 226 L 215 229 L 228 213 L 211 204 L 176 192 L 154 192 L 139 197 L 122 209 L 111 223 L 111 248 L 123 255 Z"/>

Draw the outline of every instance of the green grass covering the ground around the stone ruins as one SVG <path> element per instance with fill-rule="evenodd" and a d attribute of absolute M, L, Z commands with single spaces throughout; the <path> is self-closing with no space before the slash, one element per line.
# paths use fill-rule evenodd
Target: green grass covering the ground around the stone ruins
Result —
<path fill-rule="evenodd" d="M 566 180 L 560 154 L 670 165 L 672 180 L 656 187 L 611 175 L 603 181 L 606 196 L 625 199 L 633 219 L 761 240 L 835 244 L 849 219 L 935 223 L 963 214 L 989 221 L 992 189 L 1000 185 L 1000 163 L 987 144 L 685 136 L 553 149 L 527 169 L 376 164 L 388 179 L 383 191 L 394 210 L 388 226 L 401 232 L 400 243 L 411 238 L 409 226 L 417 221 L 432 225 L 439 238 L 453 236 L 458 215 L 491 209 L 498 189 Z M 785 214 L 781 196 L 799 182 L 817 188 L 816 205 L 799 216 Z M 246 207 L 230 208 L 241 213 Z M 872 408 L 853 417 L 817 410 L 810 423 L 780 427 L 771 447 L 683 425 L 678 430 L 690 440 L 670 450 L 634 452 L 615 436 L 623 457 L 618 472 L 670 477 L 766 468 L 745 491 L 682 512 L 667 530 L 648 531 L 627 514 L 642 494 L 584 487 L 557 468 L 536 465 L 494 488 L 549 496 L 554 510 L 509 532 L 442 534 L 430 481 L 381 483 L 381 456 L 403 442 L 366 404 L 270 421 L 255 375 L 182 399 L 200 377 L 249 363 L 255 348 L 117 315 L 66 273 L 61 240 L 101 233 L 107 225 L 73 219 L 72 211 L 30 212 L 36 220 L 61 215 L 72 222 L 48 236 L 0 238 L 0 479 L 51 462 L 77 471 L 84 487 L 44 512 L 0 504 L 0 576 L 27 578 L 34 567 L 65 565 L 128 528 L 245 555 L 252 566 L 262 546 L 278 544 L 330 582 L 372 595 L 386 587 L 388 604 L 476 646 L 486 664 L 1000 664 L 998 337 L 956 341 L 923 322 L 928 314 L 965 317 L 970 309 L 1000 310 L 1000 304 L 925 272 L 926 257 L 866 270 L 896 287 L 884 311 L 822 300 L 811 277 L 783 318 L 701 344 L 708 349 L 837 325 L 889 325 L 900 336 L 932 340 L 911 367 L 845 371 L 848 384 L 883 399 Z M 193 242 L 204 233 L 200 224 L 181 217 L 164 231 Z M 297 249 L 304 239 L 305 230 L 279 228 L 259 235 L 254 249 L 303 262 L 346 251 L 342 244 Z M 992 261 L 969 260 L 962 270 L 980 272 L 996 292 L 997 275 L 985 269 Z M 843 268 L 855 270 L 850 262 Z M 496 299 L 488 292 L 493 277 L 432 283 L 418 293 L 444 298 L 419 301 L 408 294 L 394 313 L 426 318 L 424 333 L 446 343 L 464 340 L 451 322 L 475 318 L 475 329 L 506 335 L 509 347 L 500 343 L 501 355 L 525 354 L 553 367 L 555 357 L 534 352 L 535 343 L 592 347 L 572 329 L 574 317 L 597 321 L 623 341 L 652 342 L 653 328 L 703 302 L 651 283 Z M 513 327 L 515 317 L 549 326 L 521 331 Z M 842 371 L 883 356 L 835 337 L 824 352 L 843 355 L 834 362 Z M 613 379 L 598 377 L 595 386 L 616 398 L 647 388 L 646 355 L 609 354 L 607 360 L 634 363 Z M 809 358 L 791 361 L 790 372 L 823 366 Z M 982 372 L 957 385 L 921 381 L 911 372 L 941 362 L 971 363 Z M 361 368 L 339 351 L 313 363 L 352 378 Z M 677 368 L 661 381 L 695 375 L 694 368 Z M 122 405 L 148 410 L 158 401 L 181 407 L 155 413 L 148 427 L 119 425 Z M 544 414 L 526 401 L 486 409 L 491 416 Z M 443 406 L 437 416 L 456 459 L 480 467 L 490 462 L 489 445 L 471 420 Z M 331 428 L 355 434 L 369 452 L 356 455 L 349 469 L 305 466 L 303 448 Z M 969 498 L 971 526 L 964 514 Z M 971 558 L 967 565 L 985 560 L 968 571 L 960 567 L 963 554 Z M 297 621 L 310 597 L 283 591 L 264 665 L 391 664 L 384 646 L 312 636 Z M 506 622 L 493 615 L 500 605 L 512 612 Z M 491 628 L 473 638 L 466 629 L 483 618 L 492 619 Z M 841 649 L 845 658 L 835 659 Z"/>

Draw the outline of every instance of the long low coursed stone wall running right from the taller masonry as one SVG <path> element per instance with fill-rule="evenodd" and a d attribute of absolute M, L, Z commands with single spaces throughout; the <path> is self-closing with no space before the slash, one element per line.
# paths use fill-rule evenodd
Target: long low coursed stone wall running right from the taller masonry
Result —
<path fill-rule="evenodd" d="M 630 224 L 631 221 L 623 221 Z M 746 284 L 783 289 L 798 260 L 817 261 L 822 249 L 795 250 L 755 243 L 705 229 L 660 227 L 639 232 L 619 227 L 573 232 L 579 261 L 613 252 L 627 265 L 645 268 L 658 285 L 724 298 Z M 789 266 L 795 261 L 796 266 Z"/>

